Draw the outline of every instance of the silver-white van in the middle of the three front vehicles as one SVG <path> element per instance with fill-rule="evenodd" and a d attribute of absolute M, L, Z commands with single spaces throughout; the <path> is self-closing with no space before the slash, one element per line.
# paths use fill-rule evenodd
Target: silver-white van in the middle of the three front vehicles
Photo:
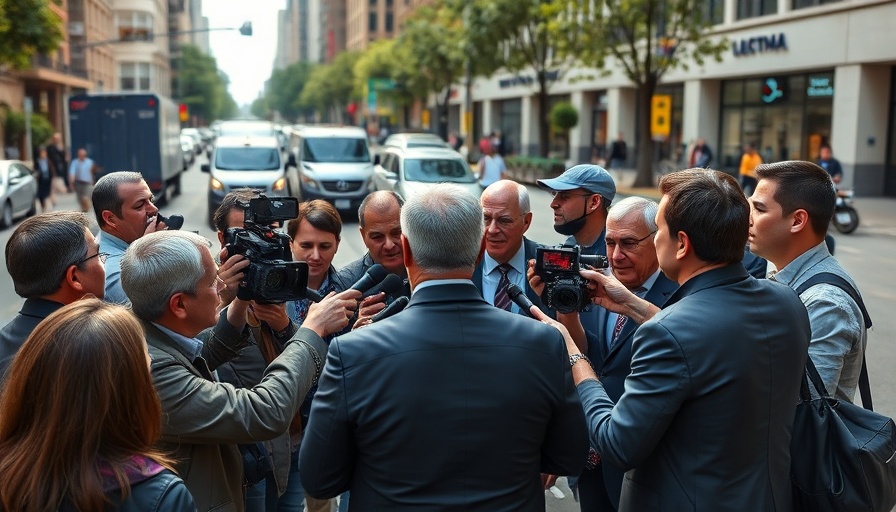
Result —
<path fill-rule="evenodd" d="M 298 164 L 303 201 L 324 199 L 356 213 L 373 189 L 373 156 L 367 133 L 355 126 L 297 126 L 290 151 Z"/>

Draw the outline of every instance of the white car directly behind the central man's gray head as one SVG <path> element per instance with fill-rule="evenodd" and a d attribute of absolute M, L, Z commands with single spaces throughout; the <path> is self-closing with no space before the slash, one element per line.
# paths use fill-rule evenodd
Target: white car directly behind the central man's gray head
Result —
<path fill-rule="evenodd" d="M 435 183 L 455 183 L 476 197 L 482 193 L 466 160 L 450 148 L 386 148 L 373 182 L 376 190 L 394 190 L 406 200 Z"/>

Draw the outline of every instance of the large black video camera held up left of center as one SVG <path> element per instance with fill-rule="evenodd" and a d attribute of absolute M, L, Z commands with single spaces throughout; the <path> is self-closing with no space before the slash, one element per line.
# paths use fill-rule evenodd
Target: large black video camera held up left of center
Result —
<path fill-rule="evenodd" d="M 304 298 L 308 264 L 292 261 L 289 236 L 271 227 L 275 222 L 298 217 L 299 200 L 261 194 L 241 205 L 245 209 L 244 226 L 230 228 L 224 234 L 228 257 L 242 254 L 249 260 L 236 296 L 261 304 Z"/>

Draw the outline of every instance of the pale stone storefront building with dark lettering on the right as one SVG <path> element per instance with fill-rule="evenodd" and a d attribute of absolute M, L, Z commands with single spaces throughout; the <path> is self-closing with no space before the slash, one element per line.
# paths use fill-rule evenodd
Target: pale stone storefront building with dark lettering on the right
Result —
<path fill-rule="evenodd" d="M 718 23 L 711 37 L 727 38 L 730 48 L 721 62 L 664 76 L 657 95 L 671 102 L 671 129 L 660 144 L 661 157 L 686 165 L 688 146 L 702 137 L 715 154 L 713 165 L 736 172 L 747 142 L 766 161 L 816 160 L 819 146 L 830 144 L 847 187 L 860 195 L 896 196 L 896 2 L 713 5 Z M 473 133 L 501 131 L 510 151 L 536 154 L 533 82 L 526 72 L 477 79 Z M 552 83 L 550 93 L 551 103 L 570 101 L 580 113 L 563 154 L 570 162 L 604 157 L 618 133 L 629 142 L 630 154 L 638 140 L 650 136 L 636 133 L 636 92 L 619 72 L 602 77 L 572 70 Z M 457 130 L 462 86 L 453 98 L 449 123 Z"/>

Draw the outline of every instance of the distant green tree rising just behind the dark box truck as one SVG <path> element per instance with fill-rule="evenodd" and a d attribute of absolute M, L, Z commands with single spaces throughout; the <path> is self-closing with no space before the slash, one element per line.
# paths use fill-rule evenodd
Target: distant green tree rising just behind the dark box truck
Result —
<path fill-rule="evenodd" d="M 173 82 L 172 90 L 179 96 L 180 102 L 186 103 L 190 114 L 203 123 L 226 119 L 236 113 L 236 102 L 227 91 L 227 75 L 218 71 L 214 57 L 194 45 L 181 47 L 178 73 Z"/>

